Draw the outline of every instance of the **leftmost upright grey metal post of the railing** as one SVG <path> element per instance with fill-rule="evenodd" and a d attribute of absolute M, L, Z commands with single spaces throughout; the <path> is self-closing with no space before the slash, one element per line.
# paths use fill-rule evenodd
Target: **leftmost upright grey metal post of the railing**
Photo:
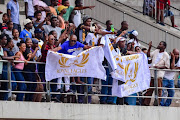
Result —
<path fill-rule="evenodd" d="M 12 83 L 11 83 L 11 63 L 7 63 L 7 78 L 8 78 L 8 101 L 12 100 Z"/>

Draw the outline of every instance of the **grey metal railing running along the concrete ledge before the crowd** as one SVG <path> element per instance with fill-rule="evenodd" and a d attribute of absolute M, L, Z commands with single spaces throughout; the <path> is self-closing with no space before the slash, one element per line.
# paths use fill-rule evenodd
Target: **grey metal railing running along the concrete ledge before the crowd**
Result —
<path fill-rule="evenodd" d="M 88 92 L 88 87 L 112 87 L 112 85 L 100 85 L 100 84 L 75 84 L 75 83 L 70 83 L 70 84 L 66 84 L 66 83 L 57 83 L 57 82 L 32 82 L 32 81 L 12 81 L 11 80 L 11 72 L 15 72 L 15 71 L 11 71 L 11 63 L 8 62 L 7 60 L 0 60 L 0 62 L 4 62 L 7 63 L 7 78 L 8 80 L 0 80 L 1 83 L 7 83 L 8 84 L 8 89 L 6 90 L 0 90 L 0 93 L 8 93 L 8 100 L 11 101 L 12 100 L 12 94 L 17 94 L 17 93 L 29 93 L 29 94 L 45 94 L 45 99 L 46 102 L 51 102 L 51 98 L 52 95 L 67 95 L 67 97 L 69 96 L 68 99 L 72 99 L 71 97 L 74 96 L 74 98 L 76 99 L 76 103 L 77 103 L 77 97 L 78 96 L 84 96 L 84 102 L 83 103 L 89 103 L 88 101 L 88 97 L 89 96 L 98 96 L 98 97 L 116 97 L 116 96 L 112 96 L 112 95 L 107 95 L 107 94 L 100 94 L 100 93 L 89 93 Z M 15 63 L 22 63 L 23 61 L 14 61 Z M 45 64 L 45 63 L 41 63 L 41 62 L 28 62 L 28 63 L 32 63 L 32 64 Z M 169 69 L 154 69 L 154 68 L 150 68 L 150 70 L 154 70 L 154 86 L 150 87 L 150 89 L 155 89 L 155 95 L 154 96 L 127 96 L 129 98 L 153 98 L 155 99 L 154 105 L 158 105 L 159 103 L 159 99 L 160 98 L 165 98 L 165 99 L 180 99 L 180 97 L 162 97 L 162 96 L 158 96 L 158 90 L 159 89 L 173 89 L 173 90 L 180 90 L 180 88 L 166 88 L 166 87 L 158 87 L 158 79 L 157 79 L 157 71 L 161 70 L 161 71 L 171 71 L 171 72 L 180 72 L 180 70 L 169 70 Z M 6 72 L 6 71 L 3 71 Z M 99 83 L 101 82 L 101 80 L 99 80 Z M 17 90 L 12 90 L 12 83 L 25 83 L 25 84 L 43 84 L 45 86 L 45 91 L 41 91 L 41 92 L 35 92 L 35 91 L 17 91 Z M 87 83 L 87 78 L 85 79 L 85 83 Z M 71 85 L 71 86 L 84 86 L 84 92 L 83 93 L 77 93 L 77 91 L 74 91 L 72 93 L 66 93 L 66 92 L 56 92 L 56 91 L 51 91 L 51 85 Z M 178 91 L 179 92 L 179 91 Z M 69 100 L 70 102 L 70 100 Z M 124 102 L 124 101 L 123 101 Z"/>

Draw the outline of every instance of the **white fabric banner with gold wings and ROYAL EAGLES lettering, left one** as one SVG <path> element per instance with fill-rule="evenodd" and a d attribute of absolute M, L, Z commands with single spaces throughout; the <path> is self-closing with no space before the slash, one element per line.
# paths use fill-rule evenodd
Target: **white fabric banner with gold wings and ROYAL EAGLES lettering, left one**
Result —
<path fill-rule="evenodd" d="M 106 80 L 103 60 L 102 47 L 92 47 L 77 56 L 48 51 L 46 81 L 59 77 L 93 77 Z"/>

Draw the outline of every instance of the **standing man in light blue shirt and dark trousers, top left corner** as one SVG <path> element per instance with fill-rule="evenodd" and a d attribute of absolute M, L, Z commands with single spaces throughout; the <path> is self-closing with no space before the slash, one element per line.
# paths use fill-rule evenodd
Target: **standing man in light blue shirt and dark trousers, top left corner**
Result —
<path fill-rule="evenodd" d="M 7 3 L 7 14 L 9 20 L 13 22 L 13 29 L 17 29 L 19 33 L 21 32 L 21 26 L 19 21 L 19 3 L 17 0 L 10 0 Z"/>

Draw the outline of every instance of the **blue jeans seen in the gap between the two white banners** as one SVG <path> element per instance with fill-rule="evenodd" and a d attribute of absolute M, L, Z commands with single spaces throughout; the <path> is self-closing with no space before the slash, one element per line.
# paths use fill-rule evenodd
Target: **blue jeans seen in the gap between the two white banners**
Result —
<path fill-rule="evenodd" d="M 106 81 L 102 80 L 102 85 L 112 85 L 113 78 L 109 74 L 109 68 L 106 68 Z M 105 95 L 112 95 L 112 87 L 106 87 L 102 86 L 101 94 Z M 100 102 L 106 102 L 106 103 L 115 103 L 116 104 L 117 97 L 107 97 L 103 96 L 100 98 Z"/>

